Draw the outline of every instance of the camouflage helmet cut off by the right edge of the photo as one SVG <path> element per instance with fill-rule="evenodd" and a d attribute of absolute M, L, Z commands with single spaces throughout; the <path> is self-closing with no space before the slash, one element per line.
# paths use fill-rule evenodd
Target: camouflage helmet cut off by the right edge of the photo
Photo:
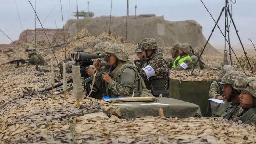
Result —
<path fill-rule="evenodd" d="M 256 99 L 256 77 L 237 77 L 234 89 L 244 93 L 248 93 Z"/>

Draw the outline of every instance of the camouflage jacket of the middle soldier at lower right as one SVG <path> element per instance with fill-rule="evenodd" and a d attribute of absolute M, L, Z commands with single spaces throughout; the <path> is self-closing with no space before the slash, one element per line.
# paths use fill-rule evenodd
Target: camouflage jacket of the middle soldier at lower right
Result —
<path fill-rule="evenodd" d="M 233 120 L 233 118 L 236 118 L 240 116 L 243 113 L 243 108 L 241 108 L 238 103 L 232 104 L 228 106 L 226 111 L 221 115 L 224 119 L 227 120 Z"/>

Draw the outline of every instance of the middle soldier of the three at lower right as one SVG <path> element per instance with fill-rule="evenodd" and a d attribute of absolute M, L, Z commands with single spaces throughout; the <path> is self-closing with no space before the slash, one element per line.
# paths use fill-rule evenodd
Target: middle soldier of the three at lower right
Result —
<path fill-rule="evenodd" d="M 222 91 L 224 93 L 224 98 L 231 102 L 226 111 L 221 115 L 224 119 L 232 120 L 233 118 L 239 116 L 243 109 L 239 106 L 239 95 L 241 92 L 234 89 L 234 83 L 237 77 L 246 78 L 247 76 L 243 73 L 237 71 L 229 71 L 222 78 L 219 84 L 222 84 Z"/>

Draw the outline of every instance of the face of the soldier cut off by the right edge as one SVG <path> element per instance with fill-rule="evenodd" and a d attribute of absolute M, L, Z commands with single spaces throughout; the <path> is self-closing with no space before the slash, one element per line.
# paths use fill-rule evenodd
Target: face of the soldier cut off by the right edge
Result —
<path fill-rule="evenodd" d="M 251 107 L 253 104 L 255 104 L 252 95 L 244 92 L 242 92 L 239 95 L 239 101 L 240 101 L 240 106 L 242 108 L 248 108 L 248 107 Z"/>

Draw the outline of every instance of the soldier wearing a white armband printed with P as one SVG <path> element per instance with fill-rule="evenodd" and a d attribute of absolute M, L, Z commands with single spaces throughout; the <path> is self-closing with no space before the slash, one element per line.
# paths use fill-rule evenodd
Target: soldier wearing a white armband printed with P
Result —
<path fill-rule="evenodd" d="M 170 97 L 169 88 L 169 68 L 163 59 L 163 54 L 158 49 L 158 44 L 153 38 L 142 39 L 138 47 L 143 52 L 146 59 L 140 69 L 140 76 L 145 81 L 148 90 L 155 97 Z"/>

